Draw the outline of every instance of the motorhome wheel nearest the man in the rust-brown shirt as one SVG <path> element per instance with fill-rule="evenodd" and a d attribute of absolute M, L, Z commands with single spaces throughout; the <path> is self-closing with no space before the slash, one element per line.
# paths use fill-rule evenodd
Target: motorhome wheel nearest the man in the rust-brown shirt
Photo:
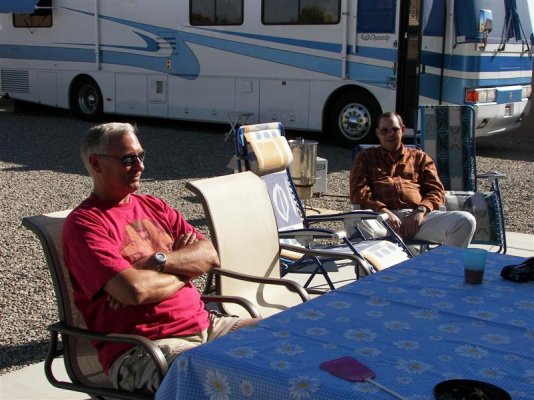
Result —
<path fill-rule="evenodd" d="M 353 147 L 359 143 L 376 143 L 376 119 L 380 106 L 369 95 L 361 92 L 342 94 L 330 108 L 328 129 L 338 142 Z"/>

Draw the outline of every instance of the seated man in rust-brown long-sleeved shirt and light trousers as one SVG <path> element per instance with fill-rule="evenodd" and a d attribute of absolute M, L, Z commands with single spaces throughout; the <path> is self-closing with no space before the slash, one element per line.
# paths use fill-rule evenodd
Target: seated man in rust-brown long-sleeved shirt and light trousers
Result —
<path fill-rule="evenodd" d="M 400 115 L 378 118 L 379 147 L 358 153 L 350 173 L 351 203 L 386 213 L 388 223 L 404 238 L 467 247 L 475 233 L 473 215 L 438 211 L 445 193 L 434 161 L 419 149 L 402 144 L 405 127 Z M 373 225 L 370 236 L 383 234 Z"/>

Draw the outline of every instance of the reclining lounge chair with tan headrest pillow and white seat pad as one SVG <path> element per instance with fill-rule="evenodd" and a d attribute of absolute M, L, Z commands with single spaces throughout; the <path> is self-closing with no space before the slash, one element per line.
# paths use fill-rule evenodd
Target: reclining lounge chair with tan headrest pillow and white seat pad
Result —
<path fill-rule="evenodd" d="M 293 160 L 292 151 L 284 136 L 281 123 L 245 125 L 239 128 L 236 137 L 236 169 L 250 170 L 260 176 L 267 184 L 271 202 L 275 210 L 279 236 L 283 243 L 304 246 L 308 249 L 338 252 L 356 256 L 356 265 L 351 262 L 336 260 L 331 272 L 340 272 L 341 266 L 352 265 L 354 279 L 360 274 L 368 275 L 377 270 L 388 268 L 411 257 L 410 250 L 402 243 L 400 237 L 384 223 L 386 215 L 372 211 L 351 211 L 344 213 L 320 214 L 308 216 L 304 210 L 298 192 L 288 169 Z M 390 233 L 392 241 L 365 241 L 361 232 L 356 231 L 348 238 L 344 231 L 311 227 L 311 224 L 354 224 L 355 221 L 372 219 L 384 226 Z M 319 239 L 328 239 L 329 243 L 318 243 Z M 310 274 L 304 284 L 309 287 L 316 276 L 323 276 L 330 289 L 334 289 L 328 272 L 328 257 L 295 258 L 287 252 L 282 253 L 282 271 L 286 273 Z M 352 263 L 352 264 L 351 264 Z M 314 266 L 315 265 L 315 266 Z M 345 268 L 346 270 L 346 268 Z M 342 279 L 345 283 L 346 280 Z"/>

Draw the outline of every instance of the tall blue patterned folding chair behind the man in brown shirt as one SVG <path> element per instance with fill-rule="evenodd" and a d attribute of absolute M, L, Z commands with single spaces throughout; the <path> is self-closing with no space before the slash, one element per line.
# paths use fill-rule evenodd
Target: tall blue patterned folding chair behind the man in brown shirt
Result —
<path fill-rule="evenodd" d="M 436 163 L 445 186 L 447 210 L 467 211 L 477 227 L 471 243 L 496 246 L 506 253 L 504 209 L 498 172 L 477 173 L 475 111 L 471 106 L 420 106 L 417 144 Z M 487 179 L 489 190 L 478 190 L 478 179 Z"/>

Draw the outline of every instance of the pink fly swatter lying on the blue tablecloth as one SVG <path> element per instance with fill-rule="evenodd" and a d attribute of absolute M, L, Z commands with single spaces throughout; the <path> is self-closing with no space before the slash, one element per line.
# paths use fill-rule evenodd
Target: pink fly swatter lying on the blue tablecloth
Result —
<path fill-rule="evenodd" d="M 374 380 L 374 378 L 376 377 L 375 372 L 368 366 L 356 360 L 355 358 L 341 357 L 335 360 L 325 361 L 321 363 L 320 367 L 322 370 L 329 372 L 334 376 L 346 379 L 351 382 L 369 382 L 379 387 L 380 389 L 388 392 L 389 394 L 401 400 L 405 400 L 405 398 L 400 394 L 376 382 Z"/>

